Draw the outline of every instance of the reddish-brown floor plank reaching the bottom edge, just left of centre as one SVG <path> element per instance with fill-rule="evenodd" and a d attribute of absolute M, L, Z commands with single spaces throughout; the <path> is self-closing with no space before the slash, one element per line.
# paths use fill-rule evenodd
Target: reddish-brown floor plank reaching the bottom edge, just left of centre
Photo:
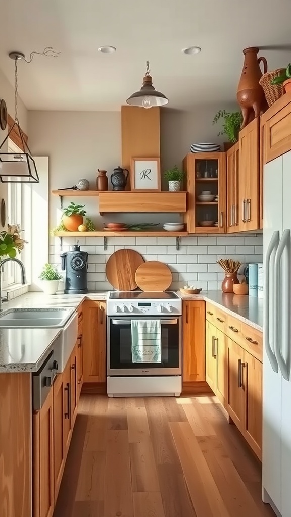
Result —
<path fill-rule="evenodd" d="M 128 432 L 108 431 L 104 517 L 134 517 Z"/>

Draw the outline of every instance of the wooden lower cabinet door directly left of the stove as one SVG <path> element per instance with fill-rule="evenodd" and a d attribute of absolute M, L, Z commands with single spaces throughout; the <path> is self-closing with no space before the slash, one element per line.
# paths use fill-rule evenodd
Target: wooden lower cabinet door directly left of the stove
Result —
<path fill-rule="evenodd" d="M 85 383 L 106 382 L 106 303 L 83 303 L 83 369 Z"/>

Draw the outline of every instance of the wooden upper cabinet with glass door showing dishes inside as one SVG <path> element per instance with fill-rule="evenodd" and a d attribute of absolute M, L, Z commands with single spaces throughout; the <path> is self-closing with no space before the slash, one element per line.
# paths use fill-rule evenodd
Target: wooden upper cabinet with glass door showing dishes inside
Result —
<path fill-rule="evenodd" d="M 226 232 L 225 153 L 190 153 L 183 160 L 188 191 L 184 221 L 188 233 Z M 200 201 L 199 194 L 209 191 L 211 202 Z M 211 226 L 207 226 L 211 223 Z"/>

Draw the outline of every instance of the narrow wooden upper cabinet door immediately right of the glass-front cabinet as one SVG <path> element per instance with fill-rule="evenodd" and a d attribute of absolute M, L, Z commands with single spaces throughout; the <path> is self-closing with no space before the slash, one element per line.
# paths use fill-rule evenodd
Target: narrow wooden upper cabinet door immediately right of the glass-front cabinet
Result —
<path fill-rule="evenodd" d="M 239 142 L 226 153 L 226 231 L 235 233 L 239 226 Z"/>

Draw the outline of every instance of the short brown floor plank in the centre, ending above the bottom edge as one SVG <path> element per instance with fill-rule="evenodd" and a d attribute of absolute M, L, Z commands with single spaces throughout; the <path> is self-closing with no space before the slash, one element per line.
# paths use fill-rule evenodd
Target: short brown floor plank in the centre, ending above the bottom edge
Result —
<path fill-rule="evenodd" d="M 133 492 L 159 492 L 151 442 L 129 445 Z"/>

